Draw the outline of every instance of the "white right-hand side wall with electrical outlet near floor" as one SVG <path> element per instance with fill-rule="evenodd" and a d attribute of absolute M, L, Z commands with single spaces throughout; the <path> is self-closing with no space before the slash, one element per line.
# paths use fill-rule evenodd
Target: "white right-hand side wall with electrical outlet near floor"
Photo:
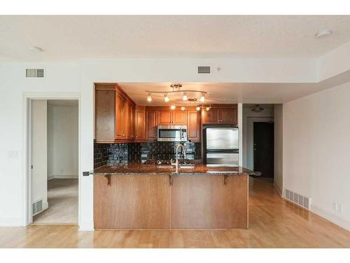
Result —
<path fill-rule="evenodd" d="M 350 230 L 350 83 L 283 104 L 283 187 Z M 343 212 L 332 208 L 343 205 Z"/>

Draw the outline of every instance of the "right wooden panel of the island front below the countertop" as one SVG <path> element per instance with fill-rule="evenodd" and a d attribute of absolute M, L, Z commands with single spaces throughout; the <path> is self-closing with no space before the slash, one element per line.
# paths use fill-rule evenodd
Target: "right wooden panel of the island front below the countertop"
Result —
<path fill-rule="evenodd" d="M 174 176 L 172 228 L 248 228 L 248 177 Z"/>

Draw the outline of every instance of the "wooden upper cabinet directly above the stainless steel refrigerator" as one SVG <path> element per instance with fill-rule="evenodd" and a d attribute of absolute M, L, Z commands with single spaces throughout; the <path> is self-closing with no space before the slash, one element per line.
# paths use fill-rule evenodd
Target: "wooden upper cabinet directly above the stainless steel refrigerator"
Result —
<path fill-rule="evenodd" d="M 237 104 L 211 107 L 209 111 L 202 109 L 203 124 L 237 124 Z"/>

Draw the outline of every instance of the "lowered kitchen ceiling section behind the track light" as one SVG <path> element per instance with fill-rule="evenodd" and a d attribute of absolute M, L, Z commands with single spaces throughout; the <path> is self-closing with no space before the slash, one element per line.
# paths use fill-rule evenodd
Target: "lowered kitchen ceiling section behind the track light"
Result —
<path fill-rule="evenodd" d="M 349 79 L 349 74 L 347 74 Z M 336 81 L 327 83 L 182 83 L 182 90 L 207 91 L 204 104 L 225 103 L 283 103 L 307 96 L 311 93 L 324 90 Z M 147 102 L 146 90 L 167 92 L 172 90 L 171 83 L 119 83 L 125 92 L 139 105 L 165 106 L 175 104 L 177 106 L 190 105 L 183 102 L 182 93 L 168 94 L 170 101 L 164 101 L 163 94 L 152 94 L 152 102 Z M 188 94 L 188 97 L 196 97 Z M 200 94 L 197 95 L 200 98 Z M 201 104 L 202 102 L 197 102 Z"/>

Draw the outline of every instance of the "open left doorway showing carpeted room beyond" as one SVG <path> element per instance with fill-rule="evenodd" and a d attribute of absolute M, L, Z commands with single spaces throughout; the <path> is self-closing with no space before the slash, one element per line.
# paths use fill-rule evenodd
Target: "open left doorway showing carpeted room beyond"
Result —
<path fill-rule="evenodd" d="M 78 224 L 78 100 L 29 105 L 29 222 Z"/>

